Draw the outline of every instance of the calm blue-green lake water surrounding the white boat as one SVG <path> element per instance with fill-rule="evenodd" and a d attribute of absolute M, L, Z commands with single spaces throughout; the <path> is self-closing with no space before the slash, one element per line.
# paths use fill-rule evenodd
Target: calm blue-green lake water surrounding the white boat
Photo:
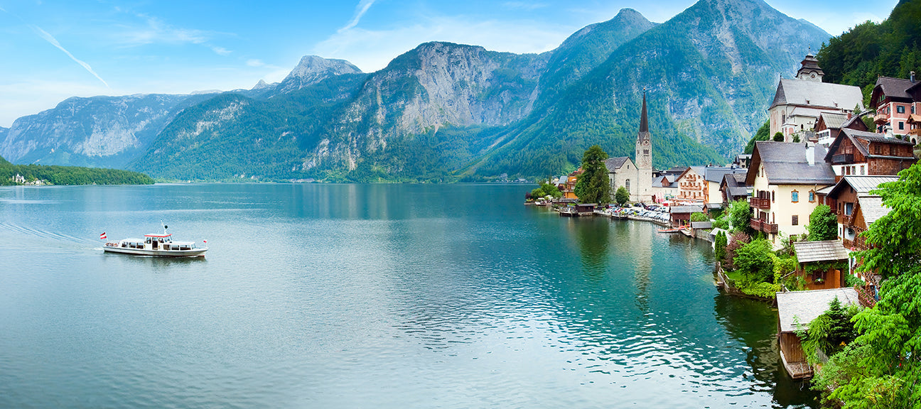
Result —
<path fill-rule="evenodd" d="M 2 188 L 0 407 L 814 407 L 708 243 L 531 187 Z"/>

